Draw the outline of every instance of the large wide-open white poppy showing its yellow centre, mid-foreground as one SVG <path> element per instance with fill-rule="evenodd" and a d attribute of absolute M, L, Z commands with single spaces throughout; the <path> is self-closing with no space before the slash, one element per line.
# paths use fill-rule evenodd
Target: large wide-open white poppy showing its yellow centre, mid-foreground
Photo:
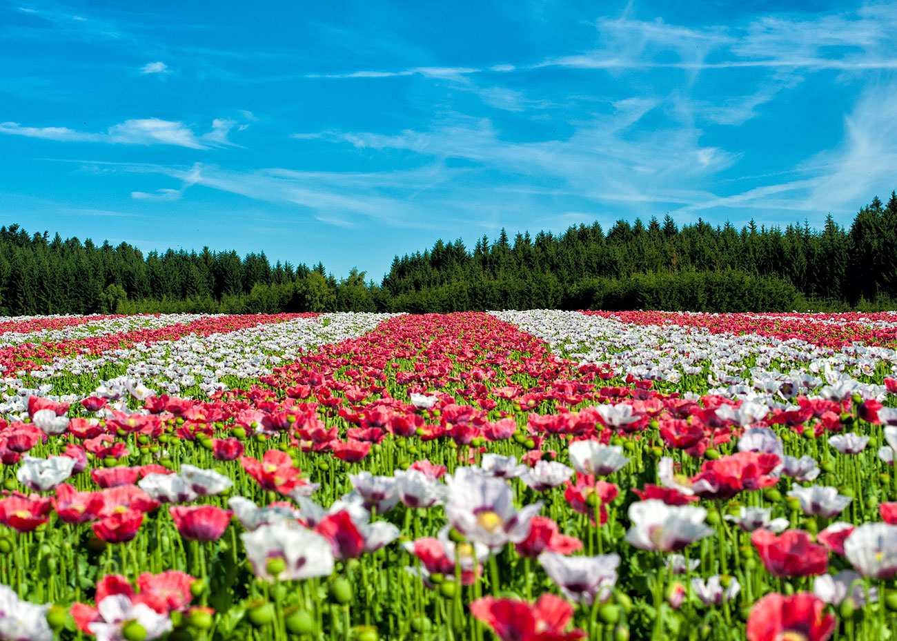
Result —
<path fill-rule="evenodd" d="M 446 481 L 448 523 L 471 541 L 491 548 L 526 539 L 530 521 L 542 509 L 540 501 L 518 510 L 507 482 L 471 472 L 471 468 L 457 469 Z"/>

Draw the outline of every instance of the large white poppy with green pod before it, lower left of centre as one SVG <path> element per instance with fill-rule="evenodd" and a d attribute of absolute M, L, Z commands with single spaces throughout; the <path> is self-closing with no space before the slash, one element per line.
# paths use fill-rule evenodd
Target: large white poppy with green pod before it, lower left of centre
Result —
<path fill-rule="evenodd" d="M 334 554 L 330 541 L 299 524 L 280 521 L 258 527 L 254 532 L 239 535 L 246 548 L 256 576 L 274 580 L 268 572 L 269 559 L 283 559 L 281 581 L 294 581 L 311 576 L 329 576 L 334 570 Z"/>

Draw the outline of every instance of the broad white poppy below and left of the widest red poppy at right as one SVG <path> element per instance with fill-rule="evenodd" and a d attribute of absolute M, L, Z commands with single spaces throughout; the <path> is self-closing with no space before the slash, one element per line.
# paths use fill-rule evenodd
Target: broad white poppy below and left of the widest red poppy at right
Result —
<path fill-rule="evenodd" d="M 629 507 L 632 527 L 626 541 L 640 550 L 678 551 L 713 533 L 704 524 L 703 507 L 668 506 L 658 498 Z"/>

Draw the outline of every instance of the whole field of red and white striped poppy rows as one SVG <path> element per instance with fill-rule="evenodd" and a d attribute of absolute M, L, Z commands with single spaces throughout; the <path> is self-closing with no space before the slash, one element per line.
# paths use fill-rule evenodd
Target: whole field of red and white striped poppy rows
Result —
<path fill-rule="evenodd" d="M 897 314 L 0 319 L 0 638 L 897 637 Z"/>

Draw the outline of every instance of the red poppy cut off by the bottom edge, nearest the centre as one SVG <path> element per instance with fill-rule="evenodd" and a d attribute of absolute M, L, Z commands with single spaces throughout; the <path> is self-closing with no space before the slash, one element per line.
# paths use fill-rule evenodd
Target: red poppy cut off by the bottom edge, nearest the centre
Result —
<path fill-rule="evenodd" d="M 550 593 L 532 605 L 486 596 L 470 604 L 470 613 L 495 630 L 501 641 L 573 641 L 586 637 L 579 628 L 563 631 L 573 618 L 573 606 Z"/>

